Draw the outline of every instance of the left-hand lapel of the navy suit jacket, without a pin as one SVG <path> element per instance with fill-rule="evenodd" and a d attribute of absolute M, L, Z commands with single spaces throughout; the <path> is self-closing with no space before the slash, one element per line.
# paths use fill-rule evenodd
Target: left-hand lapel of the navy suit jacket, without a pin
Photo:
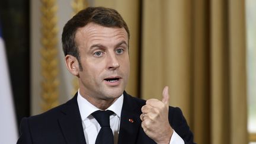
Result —
<path fill-rule="evenodd" d="M 82 120 L 79 113 L 77 94 L 65 104 L 62 109 L 63 117 L 60 117 L 59 124 L 65 136 L 66 142 L 69 144 L 84 144 L 84 130 L 82 128 Z"/>

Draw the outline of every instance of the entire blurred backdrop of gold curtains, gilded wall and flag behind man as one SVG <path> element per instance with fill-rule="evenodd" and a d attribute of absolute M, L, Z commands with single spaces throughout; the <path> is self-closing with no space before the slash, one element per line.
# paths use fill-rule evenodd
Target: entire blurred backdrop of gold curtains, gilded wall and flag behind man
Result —
<path fill-rule="evenodd" d="M 1 0 L 1 144 L 77 91 L 60 39 L 90 6 L 117 9 L 129 26 L 129 94 L 161 100 L 168 85 L 195 142 L 256 143 L 255 0 Z"/>

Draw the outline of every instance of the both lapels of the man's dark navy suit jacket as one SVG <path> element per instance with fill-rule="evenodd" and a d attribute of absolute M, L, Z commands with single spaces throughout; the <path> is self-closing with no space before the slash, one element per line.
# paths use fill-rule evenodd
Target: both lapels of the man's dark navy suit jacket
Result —
<path fill-rule="evenodd" d="M 123 107 L 119 130 L 119 144 L 136 143 L 141 120 L 139 118 L 140 106 L 132 100 L 132 97 L 124 92 Z M 77 94 L 69 100 L 62 109 L 63 117 L 59 118 L 59 124 L 68 144 L 84 144 L 84 130 L 79 113 Z"/>

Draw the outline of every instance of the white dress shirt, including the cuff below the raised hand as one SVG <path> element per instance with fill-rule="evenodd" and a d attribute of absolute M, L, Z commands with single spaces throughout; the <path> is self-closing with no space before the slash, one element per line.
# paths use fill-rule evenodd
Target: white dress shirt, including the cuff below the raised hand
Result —
<path fill-rule="evenodd" d="M 89 101 L 87 101 L 78 90 L 78 107 L 82 118 L 82 126 L 84 129 L 85 141 L 87 144 L 94 144 L 101 126 L 96 119 L 91 115 L 94 111 L 100 110 Z M 114 112 L 110 116 L 110 127 L 114 135 L 114 143 L 117 144 L 121 119 L 121 108 L 123 107 L 123 95 L 121 95 L 107 110 Z M 183 139 L 174 131 L 171 137 L 170 144 L 184 144 Z"/>

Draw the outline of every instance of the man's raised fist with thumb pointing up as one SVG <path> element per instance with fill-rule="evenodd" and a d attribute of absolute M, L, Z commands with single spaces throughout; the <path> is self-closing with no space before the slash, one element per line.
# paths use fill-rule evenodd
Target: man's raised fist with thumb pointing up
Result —
<path fill-rule="evenodd" d="M 142 107 L 142 128 L 146 135 L 156 143 L 169 143 L 174 130 L 168 120 L 169 94 L 168 87 L 162 92 L 162 101 L 149 99 Z"/>

